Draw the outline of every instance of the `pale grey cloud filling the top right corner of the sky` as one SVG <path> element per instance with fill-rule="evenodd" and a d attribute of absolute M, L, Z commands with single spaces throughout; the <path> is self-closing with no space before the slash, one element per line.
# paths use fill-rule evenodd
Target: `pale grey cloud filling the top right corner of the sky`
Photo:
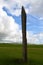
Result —
<path fill-rule="evenodd" d="M 31 2 L 31 13 L 36 16 L 43 16 L 43 0 Z"/>

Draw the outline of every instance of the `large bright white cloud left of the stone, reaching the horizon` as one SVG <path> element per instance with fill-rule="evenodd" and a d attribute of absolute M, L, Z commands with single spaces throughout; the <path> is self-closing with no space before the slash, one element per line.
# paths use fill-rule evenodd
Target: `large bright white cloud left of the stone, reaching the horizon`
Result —
<path fill-rule="evenodd" d="M 9 17 L 0 7 L 0 42 L 17 42 L 21 35 L 19 25 Z"/>

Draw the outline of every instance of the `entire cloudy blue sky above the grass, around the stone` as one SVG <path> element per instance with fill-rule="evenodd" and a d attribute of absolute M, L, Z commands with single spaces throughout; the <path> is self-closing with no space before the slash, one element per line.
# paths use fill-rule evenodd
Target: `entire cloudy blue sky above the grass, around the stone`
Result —
<path fill-rule="evenodd" d="M 43 0 L 0 0 L 0 43 L 22 43 L 22 6 L 27 15 L 27 42 L 43 44 Z"/>

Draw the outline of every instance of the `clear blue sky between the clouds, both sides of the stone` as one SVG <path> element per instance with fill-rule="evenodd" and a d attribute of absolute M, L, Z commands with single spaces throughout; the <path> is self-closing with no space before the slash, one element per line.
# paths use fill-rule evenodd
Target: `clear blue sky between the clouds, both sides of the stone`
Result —
<path fill-rule="evenodd" d="M 3 7 L 3 11 L 5 11 L 8 16 L 13 17 L 17 24 L 19 24 L 20 26 L 22 25 L 21 15 L 20 16 L 12 15 L 6 7 Z M 33 33 L 40 33 L 40 32 L 43 33 L 42 22 L 43 20 L 39 20 L 39 17 L 32 14 L 27 14 L 27 31 L 29 30 L 32 31 Z"/>

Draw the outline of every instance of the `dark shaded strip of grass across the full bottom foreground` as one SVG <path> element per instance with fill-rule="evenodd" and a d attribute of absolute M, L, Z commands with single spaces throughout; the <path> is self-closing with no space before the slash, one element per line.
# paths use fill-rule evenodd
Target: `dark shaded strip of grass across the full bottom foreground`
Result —
<path fill-rule="evenodd" d="M 43 61 L 37 61 L 29 59 L 27 63 L 24 63 L 22 59 L 19 58 L 9 58 L 0 60 L 0 65 L 43 65 Z"/>

